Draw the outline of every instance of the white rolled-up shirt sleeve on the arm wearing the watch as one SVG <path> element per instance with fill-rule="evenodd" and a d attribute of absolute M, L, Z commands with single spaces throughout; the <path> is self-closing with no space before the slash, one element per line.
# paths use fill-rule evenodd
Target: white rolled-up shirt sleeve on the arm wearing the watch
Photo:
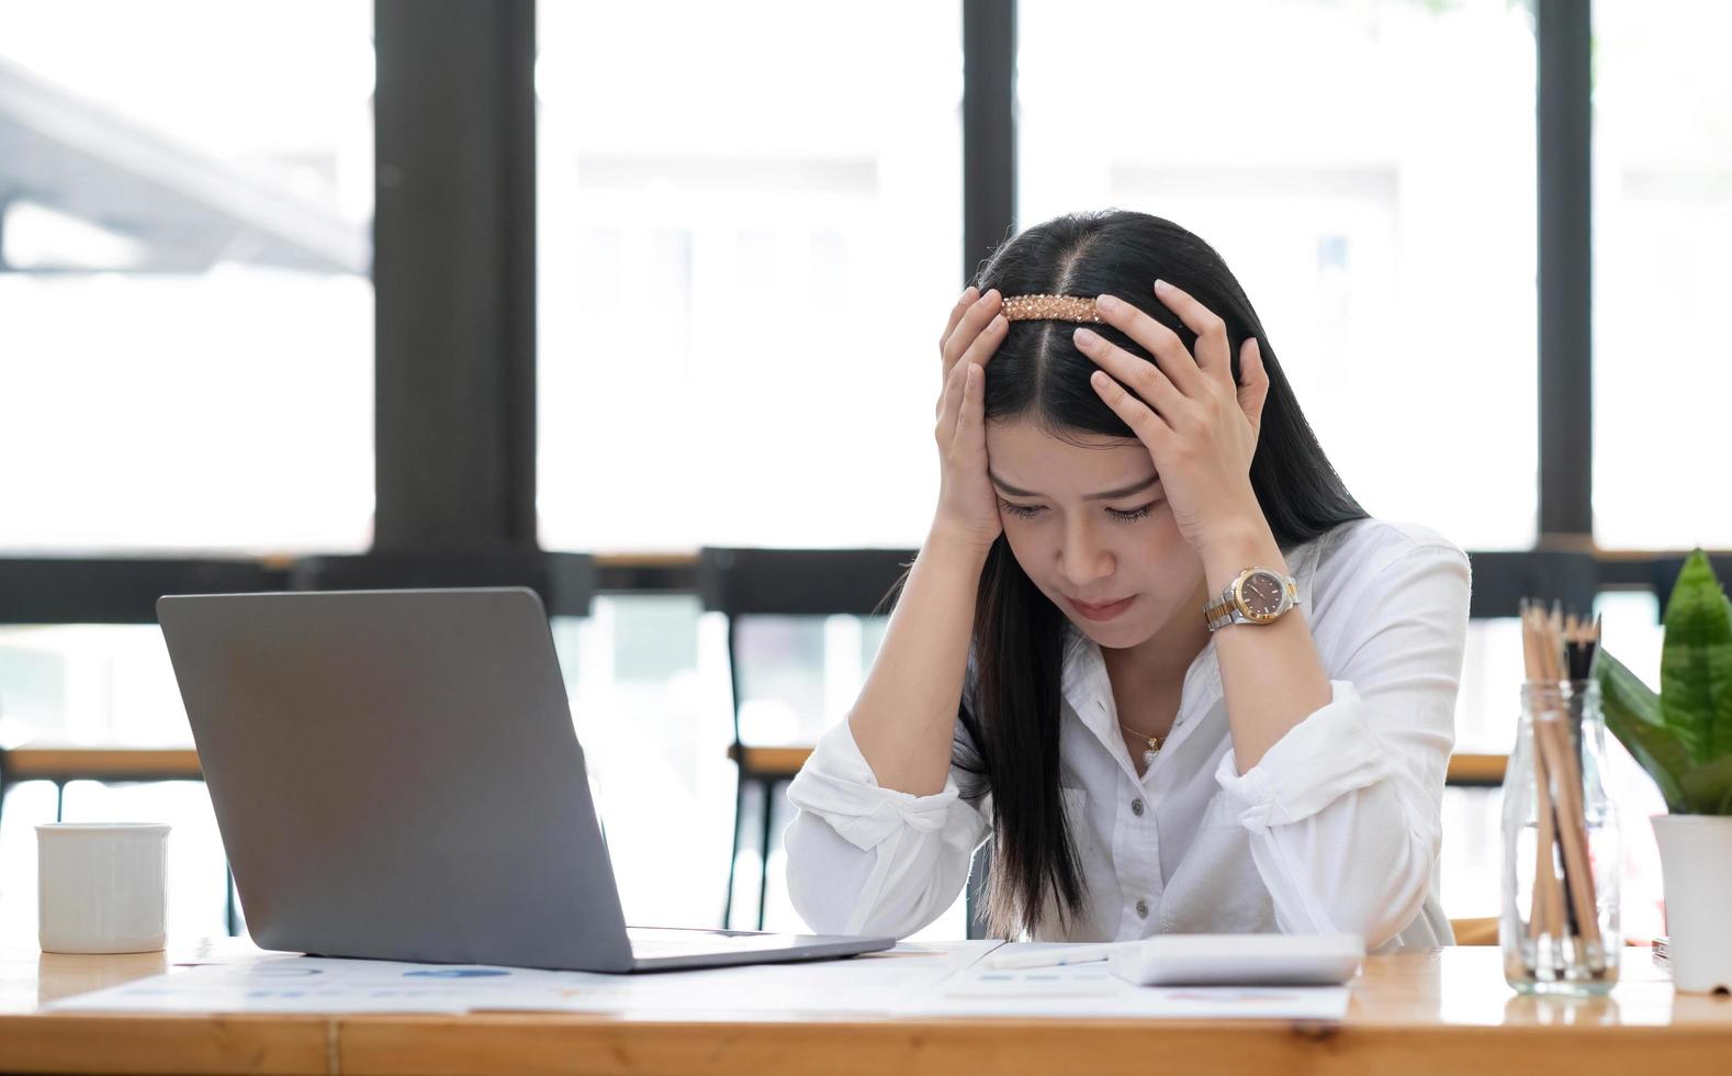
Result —
<path fill-rule="evenodd" d="M 1358 582 L 1330 702 L 1244 775 L 1228 750 L 1216 781 L 1282 930 L 1377 948 L 1420 913 L 1438 865 L 1470 574 L 1460 549 L 1427 544 Z"/>

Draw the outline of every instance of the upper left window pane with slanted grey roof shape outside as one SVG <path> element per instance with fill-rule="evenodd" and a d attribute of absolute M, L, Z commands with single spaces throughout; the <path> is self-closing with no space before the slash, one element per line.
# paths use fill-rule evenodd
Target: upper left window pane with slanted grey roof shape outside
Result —
<path fill-rule="evenodd" d="M 0 5 L 0 551 L 360 549 L 372 5 Z"/>

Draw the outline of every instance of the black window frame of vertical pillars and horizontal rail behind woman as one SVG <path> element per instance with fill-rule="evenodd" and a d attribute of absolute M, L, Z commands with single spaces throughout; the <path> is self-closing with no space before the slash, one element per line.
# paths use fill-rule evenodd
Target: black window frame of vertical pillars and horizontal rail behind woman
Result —
<path fill-rule="evenodd" d="M 1675 551 L 1593 542 L 1592 12 L 1576 0 L 1531 0 L 1531 10 L 1538 541 L 1470 553 L 1481 617 L 1510 615 L 1524 594 L 1587 606 L 1600 589 L 1651 589 L 1663 601 L 1682 563 Z M 968 277 L 1017 225 L 1017 3 L 961 0 L 961 17 Z M 589 605 L 587 586 L 558 579 L 582 575 L 603 593 L 695 591 L 696 551 L 689 561 L 589 558 L 537 541 L 535 0 L 376 0 L 374 38 L 378 508 L 357 570 L 374 586 L 424 580 L 430 560 L 442 579 L 518 579 L 556 615 Z M 1732 553 L 1715 560 L 1732 577 Z M 0 624 L 149 624 L 154 594 L 307 577 L 317 572 L 296 572 L 293 558 L 0 556 Z"/>

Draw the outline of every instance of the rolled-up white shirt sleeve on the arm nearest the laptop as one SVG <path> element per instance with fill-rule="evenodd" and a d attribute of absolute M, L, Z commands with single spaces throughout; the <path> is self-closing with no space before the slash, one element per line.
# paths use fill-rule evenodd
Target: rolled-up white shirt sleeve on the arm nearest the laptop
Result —
<path fill-rule="evenodd" d="M 883 788 L 847 721 L 824 733 L 788 785 L 788 896 L 807 927 L 902 937 L 942 915 L 991 828 L 968 776 L 953 766 L 934 795 Z"/>

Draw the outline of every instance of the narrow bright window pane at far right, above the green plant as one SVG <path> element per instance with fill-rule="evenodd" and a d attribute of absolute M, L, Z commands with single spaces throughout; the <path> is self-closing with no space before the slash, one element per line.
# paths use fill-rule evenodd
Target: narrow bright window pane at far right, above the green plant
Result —
<path fill-rule="evenodd" d="M 1732 546 L 1732 9 L 1593 5 L 1593 530 Z M 1708 483 L 1704 487 L 1704 476 Z"/>

